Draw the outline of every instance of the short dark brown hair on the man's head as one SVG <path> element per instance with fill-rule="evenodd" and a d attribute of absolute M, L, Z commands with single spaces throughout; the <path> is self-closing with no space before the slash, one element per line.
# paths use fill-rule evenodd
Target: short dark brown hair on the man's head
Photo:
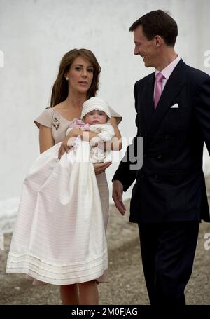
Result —
<path fill-rule="evenodd" d="M 178 27 L 176 21 L 167 11 L 155 10 L 146 13 L 146 15 L 143 15 L 132 24 L 129 31 L 134 31 L 139 25 L 142 25 L 146 39 L 152 40 L 159 35 L 165 40 L 167 46 L 174 47 L 176 36 L 178 35 Z"/>

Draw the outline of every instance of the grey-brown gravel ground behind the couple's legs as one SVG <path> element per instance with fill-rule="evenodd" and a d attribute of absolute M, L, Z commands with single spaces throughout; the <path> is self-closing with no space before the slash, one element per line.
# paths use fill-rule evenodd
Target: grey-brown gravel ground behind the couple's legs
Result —
<path fill-rule="evenodd" d="M 210 177 L 207 184 L 210 191 Z M 127 207 L 125 217 L 118 213 L 114 205 L 111 205 L 107 232 L 110 282 L 99 285 L 100 304 L 148 304 L 137 225 L 128 222 L 129 204 L 129 201 L 125 203 Z M 187 304 L 210 304 L 210 243 L 209 250 L 205 250 L 206 233 L 210 234 L 210 224 L 202 222 L 193 274 L 186 287 Z M 25 275 L 5 273 L 10 238 L 11 234 L 5 236 L 5 250 L 0 250 L 0 305 L 60 304 L 59 287 L 55 285 L 34 287 Z"/>

